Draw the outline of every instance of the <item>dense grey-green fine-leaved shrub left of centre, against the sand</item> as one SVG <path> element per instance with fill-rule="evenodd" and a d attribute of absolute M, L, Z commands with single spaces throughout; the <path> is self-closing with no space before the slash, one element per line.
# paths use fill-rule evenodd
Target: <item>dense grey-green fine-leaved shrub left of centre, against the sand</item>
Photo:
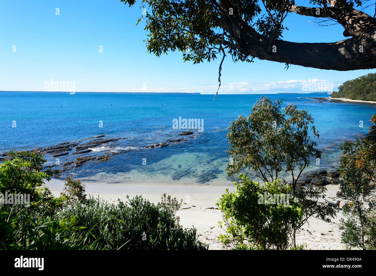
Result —
<path fill-rule="evenodd" d="M 60 216 L 76 214 L 77 225 L 91 228 L 97 223 L 106 227 L 108 249 L 208 249 L 197 241 L 196 229 L 183 229 L 163 204 L 154 205 L 141 196 L 127 198 L 127 204 L 118 200 L 114 205 L 90 197 L 87 205 L 77 203 L 67 207 Z"/>

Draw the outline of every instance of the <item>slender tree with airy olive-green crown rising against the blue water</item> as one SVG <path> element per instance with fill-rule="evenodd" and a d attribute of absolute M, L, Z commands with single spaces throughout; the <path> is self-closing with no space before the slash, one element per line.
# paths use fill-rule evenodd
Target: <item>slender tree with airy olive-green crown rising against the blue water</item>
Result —
<path fill-rule="evenodd" d="M 302 210 L 302 217 L 290 223 L 292 246 L 296 247 L 296 232 L 310 217 L 330 222 L 335 211 L 325 200 L 325 188 L 306 189 L 299 181 L 311 158 L 317 160 L 321 157 L 313 140 L 319 136 L 314 120 L 306 110 L 297 109 L 292 103 L 281 109 L 281 103 L 262 97 L 249 116 L 239 116 L 231 122 L 227 139 L 232 160 L 226 171 L 228 175 L 244 172 L 265 183 L 280 179 L 284 185 L 287 181 L 280 173 L 290 174 L 291 200 Z M 221 208 L 226 211 L 227 207 Z"/>

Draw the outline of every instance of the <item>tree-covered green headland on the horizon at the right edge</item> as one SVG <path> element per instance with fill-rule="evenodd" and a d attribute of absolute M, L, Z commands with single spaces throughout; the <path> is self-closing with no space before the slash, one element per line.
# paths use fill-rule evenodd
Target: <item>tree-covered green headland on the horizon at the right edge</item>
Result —
<path fill-rule="evenodd" d="M 354 80 L 345 81 L 333 92 L 332 98 L 376 101 L 376 74 L 370 73 Z"/>

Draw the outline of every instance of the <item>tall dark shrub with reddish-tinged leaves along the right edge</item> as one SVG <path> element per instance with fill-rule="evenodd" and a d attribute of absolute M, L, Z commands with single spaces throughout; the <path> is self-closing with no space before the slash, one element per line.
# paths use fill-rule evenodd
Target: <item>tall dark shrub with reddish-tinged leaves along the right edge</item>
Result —
<path fill-rule="evenodd" d="M 371 122 L 373 125 L 363 139 L 341 146 L 342 180 L 337 196 L 348 201 L 343 206 L 346 219 L 341 219 L 340 229 L 343 230 L 341 240 L 349 248 L 376 249 L 376 222 L 370 214 L 376 206 L 376 115 Z"/>

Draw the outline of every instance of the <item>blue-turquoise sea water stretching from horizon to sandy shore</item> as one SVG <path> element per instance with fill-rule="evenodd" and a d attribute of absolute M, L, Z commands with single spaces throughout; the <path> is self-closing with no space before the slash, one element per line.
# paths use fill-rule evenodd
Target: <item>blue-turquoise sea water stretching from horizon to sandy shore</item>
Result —
<path fill-rule="evenodd" d="M 327 94 L 218 95 L 213 101 L 214 95 L 0 92 L 0 152 L 105 135 L 122 139 L 91 148 L 92 152 L 82 156 L 108 152 L 108 161 L 87 162 L 62 176 L 69 173 L 81 180 L 103 182 L 229 183 L 235 177 L 228 177 L 225 171 L 229 160 L 227 127 L 238 115 L 248 115 L 261 95 L 271 100 L 283 98 L 283 106 L 293 102 L 312 114 L 320 132 L 318 148 L 323 154 L 320 166 L 312 160 L 309 169 L 337 166 L 338 146 L 367 133 L 369 119 L 376 111 L 371 104 L 318 103 L 302 98 Z M 191 136 L 178 136 L 184 130 L 173 129 L 172 125 L 179 116 L 203 119 L 203 132 L 194 130 Z M 12 121 L 16 121 L 15 128 Z M 99 121 L 103 121 L 103 128 Z M 363 121 L 363 128 L 359 121 Z M 186 141 L 145 148 L 179 138 Z M 73 157 L 81 156 L 58 158 L 63 164 Z M 47 164 L 55 163 L 49 154 L 46 159 Z"/>

